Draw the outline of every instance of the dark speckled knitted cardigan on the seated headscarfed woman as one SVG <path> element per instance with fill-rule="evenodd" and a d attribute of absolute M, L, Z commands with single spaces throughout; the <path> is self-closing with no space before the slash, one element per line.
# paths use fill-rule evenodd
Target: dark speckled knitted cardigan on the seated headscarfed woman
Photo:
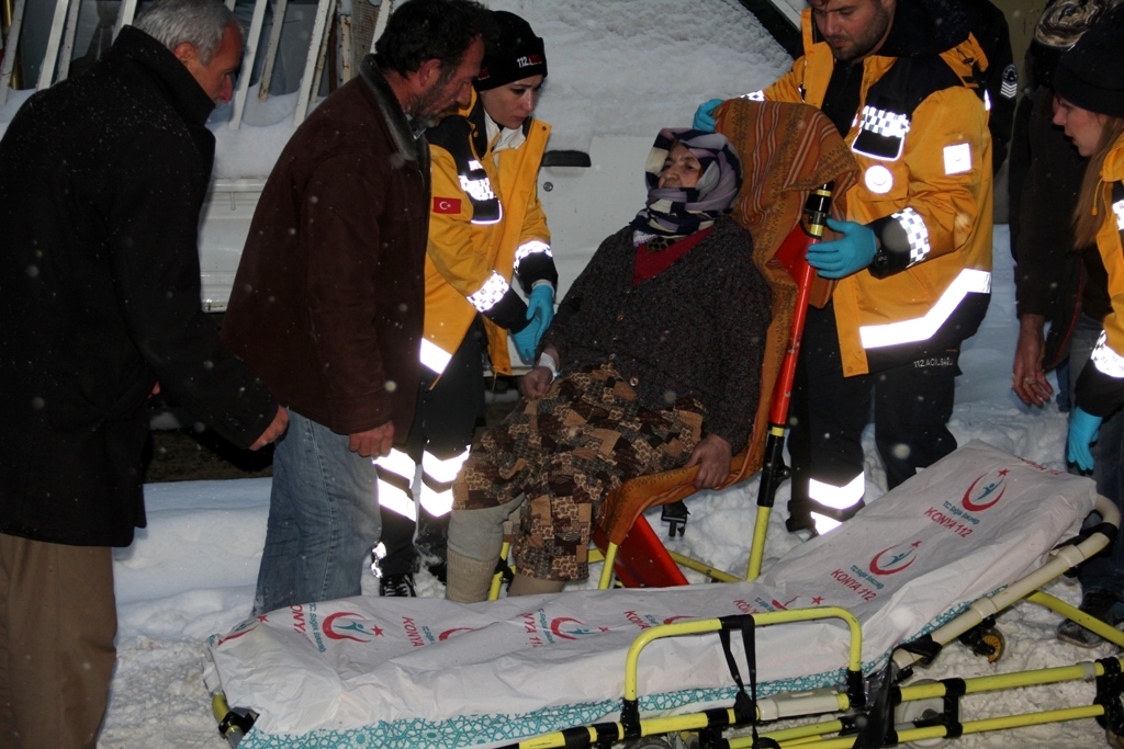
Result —
<path fill-rule="evenodd" d="M 771 304 L 750 232 L 723 219 L 635 286 L 632 235 L 626 227 L 601 243 L 542 342 L 558 349 L 563 372 L 614 364 L 647 408 L 698 399 L 704 435 L 736 451 L 753 426 Z"/>

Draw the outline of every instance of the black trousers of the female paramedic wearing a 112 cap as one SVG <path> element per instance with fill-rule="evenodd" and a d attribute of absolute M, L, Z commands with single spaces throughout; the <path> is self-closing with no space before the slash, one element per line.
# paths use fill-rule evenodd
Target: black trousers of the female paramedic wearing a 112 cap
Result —
<path fill-rule="evenodd" d="M 472 433 L 484 419 L 484 328 L 478 317 L 437 384 L 430 389 L 433 381 L 426 382 L 423 375 L 414 424 L 406 445 L 400 448 L 415 464 L 422 463 L 425 453 L 446 460 L 469 450 Z M 423 481 L 427 479 L 423 476 Z M 448 514 L 434 517 L 418 499 L 415 497 L 417 522 L 391 510 L 382 510 L 382 544 L 387 549 L 387 556 L 380 563 L 383 575 L 417 572 L 419 550 L 427 557 L 436 557 L 435 565 L 444 563 Z"/>

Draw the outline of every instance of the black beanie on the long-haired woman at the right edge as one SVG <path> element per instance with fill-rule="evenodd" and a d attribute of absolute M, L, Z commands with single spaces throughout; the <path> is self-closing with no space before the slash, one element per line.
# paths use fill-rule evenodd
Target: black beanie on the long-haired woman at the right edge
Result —
<path fill-rule="evenodd" d="M 1090 112 L 1124 117 L 1124 6 L 1105 13 L 1061 56 L 1054 91 Z"/>

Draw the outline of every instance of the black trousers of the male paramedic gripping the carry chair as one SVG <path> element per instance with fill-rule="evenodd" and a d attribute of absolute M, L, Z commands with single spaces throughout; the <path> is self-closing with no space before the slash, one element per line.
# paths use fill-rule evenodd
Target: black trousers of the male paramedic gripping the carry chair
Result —
<path fill-rule="evenodd" d="M 959 346 L 915 355 L 878 372 L 844 377 L 835 310 L 809 308 L 789 410 L 789 513 L 807 518 L 808 482 L 844 486 L 863 473 L 862 430 L 873 407 L 874 442 L 894 488 L 957 449 L 948 429 Z"/>

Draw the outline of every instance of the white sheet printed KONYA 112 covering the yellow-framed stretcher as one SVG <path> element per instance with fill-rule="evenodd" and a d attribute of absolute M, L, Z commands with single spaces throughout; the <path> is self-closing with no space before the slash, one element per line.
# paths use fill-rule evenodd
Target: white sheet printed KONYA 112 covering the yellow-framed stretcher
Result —
<path fill-rule="evenodd" d="M 1095 499 L 1087 478 L 971 442 L 758 582 L 293 606 L 212 636 L 208 684 L 259 713 L 243 749 L 438 749 L 614 720 L 628 646 L 664 622 L 843 606 L 862 622 L 869 673 L 898 643 L 1034 567 Z M 759 694 L 840 684 L 847 642 L 834 620 L 759 629 Z M 640 692 L 642 714 L 728 705 L 717 636 L 649 646 Z"/>

